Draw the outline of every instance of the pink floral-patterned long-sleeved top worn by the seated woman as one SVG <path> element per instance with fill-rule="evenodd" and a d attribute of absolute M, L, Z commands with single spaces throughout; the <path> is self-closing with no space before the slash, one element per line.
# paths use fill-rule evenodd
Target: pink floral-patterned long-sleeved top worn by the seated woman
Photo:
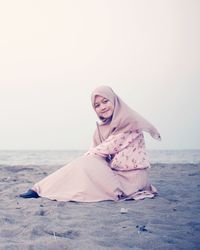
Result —
<path fill-rule="evenodd" d="M 128 171 L 150 167 L 141 132 L 129 131 L 111 135 L 98 146 L 91 148 L 87 154 L 104 158 L 109 156 L 109 165 L 115 170 Z"/>

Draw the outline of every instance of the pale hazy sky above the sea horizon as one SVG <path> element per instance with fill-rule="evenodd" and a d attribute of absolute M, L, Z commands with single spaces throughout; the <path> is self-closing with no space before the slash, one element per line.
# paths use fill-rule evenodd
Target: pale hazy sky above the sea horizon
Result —
<path fill-rule="evenodd" d="M 159 130 L 148 149 L 200 149 L 200 1 L 0 1 L 0 150 L 87 149 L 108 85 Z"/>

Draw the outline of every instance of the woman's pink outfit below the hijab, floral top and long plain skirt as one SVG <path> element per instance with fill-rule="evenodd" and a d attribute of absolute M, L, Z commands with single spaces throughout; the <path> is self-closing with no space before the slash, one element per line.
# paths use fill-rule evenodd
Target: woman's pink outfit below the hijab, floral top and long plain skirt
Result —
<path fill-rule="evenodd" d="M 108 156 L 110 161 L 106 160 Z M 149 166 L 143 134 L 130 131 L 109 136 L 32 189 L 41 197 L 57 201 L 152 198 L 157 191 L 148 181 Z"/>

